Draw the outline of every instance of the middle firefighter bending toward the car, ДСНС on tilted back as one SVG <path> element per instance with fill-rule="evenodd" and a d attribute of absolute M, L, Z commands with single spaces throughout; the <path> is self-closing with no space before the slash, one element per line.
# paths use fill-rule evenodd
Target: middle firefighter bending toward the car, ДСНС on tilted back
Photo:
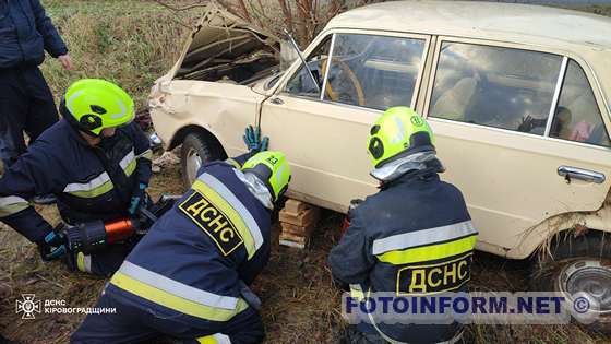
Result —
<path fill-rule="evenodd" d="M 269 258 L 271 215 L 290 180 L 284 154 L 203 165 L 112 276 L 72 343 L 259 343 L 259 298 L 249 285 Z M 243 166 L 239 168 L 243 163 Z"/>

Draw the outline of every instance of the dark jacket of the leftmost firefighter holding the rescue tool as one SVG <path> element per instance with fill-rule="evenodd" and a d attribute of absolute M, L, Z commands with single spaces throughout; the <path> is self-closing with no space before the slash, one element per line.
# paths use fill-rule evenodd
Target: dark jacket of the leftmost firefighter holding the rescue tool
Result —
<path fill-rule="evenodd" d="M 64 119 L 47 129 L 0 178 L 0 220 L 33 242 L 51 227 L 28 201 L 37 194 L 58 198 L 71 224 L 128 215 L 132 192 L 148 185 L 148 139 L 131 123 L 91 146 Z"/>

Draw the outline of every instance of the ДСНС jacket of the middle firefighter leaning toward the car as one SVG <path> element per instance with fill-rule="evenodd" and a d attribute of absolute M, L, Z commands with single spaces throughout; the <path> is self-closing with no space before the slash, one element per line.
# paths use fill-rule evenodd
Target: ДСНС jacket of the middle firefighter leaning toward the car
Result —
<path fill-rule="evenodd" d="M 271 240 L 271 211 L 239 174 L 228 162 L 202 166 L 191 189 L 136 245 L 106 293 L 143 310 L 178 312 L 181 321 L 209 334 L 231 333 L 224 325 L 249 307 L 244 289 L 267 263 Z"/>

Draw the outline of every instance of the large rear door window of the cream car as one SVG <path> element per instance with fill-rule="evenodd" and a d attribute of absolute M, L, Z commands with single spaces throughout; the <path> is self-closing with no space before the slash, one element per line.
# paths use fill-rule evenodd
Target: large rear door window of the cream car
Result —
<path fill-rule="evenodd" d="M 542 135 L 562 57 L 443 43 L 429 116 Z"/>

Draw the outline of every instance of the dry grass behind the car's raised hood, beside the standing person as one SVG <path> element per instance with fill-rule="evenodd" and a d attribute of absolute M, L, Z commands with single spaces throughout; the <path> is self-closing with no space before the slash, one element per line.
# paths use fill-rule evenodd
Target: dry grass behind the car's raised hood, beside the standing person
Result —
<path fill-rule="evenodd" d="M 59 99 L 71 82 L 82 78 L 113 81 L 146 105 L 153 82 L 177 60 L 199 17 L 180 17 L 153 1 L 43 1 L 64 38 L 74 69 L 65 71 L 48 59 L 43 72 Z"/>

